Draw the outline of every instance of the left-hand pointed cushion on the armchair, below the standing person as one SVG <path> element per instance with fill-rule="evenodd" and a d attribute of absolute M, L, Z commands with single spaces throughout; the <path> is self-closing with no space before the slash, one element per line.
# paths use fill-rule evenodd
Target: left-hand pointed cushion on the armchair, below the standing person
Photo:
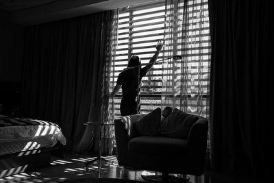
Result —
<path fill-rule="evenodd" d="M 149 114 L 145 115 L 133 125 L 138 134 L 141 136 L 159 136 L 159 126 L 161 121 L 161 109 L 156 108 Z"/>

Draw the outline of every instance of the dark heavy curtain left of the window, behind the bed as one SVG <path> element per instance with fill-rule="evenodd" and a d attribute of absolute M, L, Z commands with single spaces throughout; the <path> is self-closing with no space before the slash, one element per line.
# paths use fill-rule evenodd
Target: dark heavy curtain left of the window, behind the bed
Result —
<path fill-rule="evenodd" d="M 79 151 L 86 121 L 103 121 L 113 11 L 27 27 L 23 115 L 57 123 Z"/>

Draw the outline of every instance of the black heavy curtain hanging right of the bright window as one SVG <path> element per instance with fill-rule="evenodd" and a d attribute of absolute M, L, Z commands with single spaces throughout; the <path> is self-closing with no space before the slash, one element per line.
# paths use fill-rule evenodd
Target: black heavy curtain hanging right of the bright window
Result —
<path fill-rule="evenodd" d="M 264 178 L 273 173 L 271 9 L 270 1 L 209 0 L 210 128 L 217 171 Z"/>

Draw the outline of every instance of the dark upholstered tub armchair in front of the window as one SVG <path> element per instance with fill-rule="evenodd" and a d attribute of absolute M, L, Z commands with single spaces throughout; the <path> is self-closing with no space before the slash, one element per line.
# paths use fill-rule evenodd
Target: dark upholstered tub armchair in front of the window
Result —
<path fill-rule="evenodd" d="M 134 114 L 114 121 L 119 165 L 159 172 L 162 177 L 157 178 L 156 181 L 161 179 L 164 182 L 173 177 L 169 176 L 171 173 L 201 175 L 206 161 L 208 120 L 192 114 L 187 114 L 187 118 L 181 118 L 182 123 L 190 118 L 194 120 L 185 133 L 185 138 L 169 137 L 165 135 L 166 133 L 153 136 L 140 135 L 134 123 L 138 123 L 147 115 Z M 170 118 L 173 119 L 174 117 Z M 145 122 L 149 123 L 148 120 L 149 118 Z M 163 123 L 163 119 L 162 121 L 160 119 L 160 123 Z M 158 175 L 153 176 L 158 177 Z M 149 179 L 146 175 L 142 177 Z"/>

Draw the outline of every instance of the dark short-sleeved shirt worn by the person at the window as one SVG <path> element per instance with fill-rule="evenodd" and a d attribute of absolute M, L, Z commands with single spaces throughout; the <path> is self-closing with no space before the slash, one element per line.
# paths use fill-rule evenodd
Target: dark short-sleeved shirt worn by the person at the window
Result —
<path fill-rule="evenodd" d="M 118 76 L 117 84 L 122 85 L 123 99 L 126 101 L 135 100 L 140 92 L 140 80 L 146 75 L 147 69 L 146 67 L 140 69 L 138 77 L 139 68 L 125 70 Z"/>

